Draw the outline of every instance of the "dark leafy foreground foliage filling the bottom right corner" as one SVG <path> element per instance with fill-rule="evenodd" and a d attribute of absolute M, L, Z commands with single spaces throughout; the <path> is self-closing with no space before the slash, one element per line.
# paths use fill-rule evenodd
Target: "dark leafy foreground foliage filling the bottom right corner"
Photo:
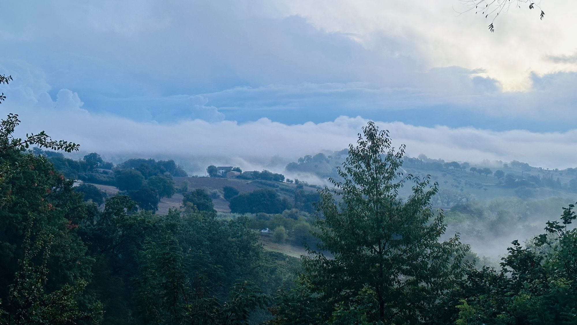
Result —
<path fill-rule="evenodd" d="M 452 295 L 459 301 L 457 324 L 576 324 L 577 230 L 575 206 L 563 208 L 546 233 L 513 241 L 500 271 L 470 270 Z"/>

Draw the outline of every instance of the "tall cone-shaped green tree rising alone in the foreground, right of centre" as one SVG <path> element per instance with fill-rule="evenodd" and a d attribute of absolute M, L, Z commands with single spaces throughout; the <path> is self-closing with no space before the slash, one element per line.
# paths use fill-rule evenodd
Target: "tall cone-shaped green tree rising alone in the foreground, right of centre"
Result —
<path fill-rule="evenodd" d="M 463 276 L 468 247 L 456 235 L 439 241 L 444 216 L 430 207 L 437 184 L 403 175 L 403 155 L 404 146 L 395 152 L 388 132 L 369 122 L 338 168 L 343 181 L 331 179 L 335 188 L 321 191 L 321 243 L 308 247 L 303 267 L 325 319 L 335 306 L 361 307 L 358 299 L 374 302 L 361 308 L 369 322 L 432 322 L 440 298 Z M 414 180 L 413 192 L 402 200 L 398 190 L 407 180 Z"/>

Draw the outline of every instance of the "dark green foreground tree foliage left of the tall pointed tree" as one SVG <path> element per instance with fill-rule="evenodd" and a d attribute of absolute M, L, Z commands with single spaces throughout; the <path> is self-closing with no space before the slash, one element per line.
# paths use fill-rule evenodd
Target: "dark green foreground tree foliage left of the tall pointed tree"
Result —
<path fill-rule="evenodd" d="M 108 198 L 100 211 L 46 157 L 25 152 L 30 144 L 77 146 L 44 135 L 17 139 L 18 122 L 10 115 L 0 130 L 0 324 L 240 324 L 266 317 L 267 294 L 289 267 L 264 252 L 246 219 L 222 221 L 194 209 L 156 216 L 128 195 Z M 155 195 L 173 193 L 171 182 L 153 177 L 163 186 Z"/>

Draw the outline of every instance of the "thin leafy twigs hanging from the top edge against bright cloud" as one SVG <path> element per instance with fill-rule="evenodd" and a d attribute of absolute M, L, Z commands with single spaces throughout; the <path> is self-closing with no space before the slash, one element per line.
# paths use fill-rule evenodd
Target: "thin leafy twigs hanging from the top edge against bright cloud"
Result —
<path fill-rule="evenodd" d="M 489 31 L 494 32 L 494 21 L 499 17 L 499 14 L 506 14 L 511 5 L 521 8 L 521 5 L 527 6 L 529 9 L 537 8 L 539 13 L 539 19 L 543 20 L 545 17 L 545 12 L 541 10 L 541 2 L 532 2 L 531 0 L 508 0 L 508 1 L 493 1 L 493 0 L 460 0 L 466 6 L 466 9 L 460 13 L 472 12 L 480 13 L 481 16 L 485 16 L 485 19 L 490 19 Z"/>

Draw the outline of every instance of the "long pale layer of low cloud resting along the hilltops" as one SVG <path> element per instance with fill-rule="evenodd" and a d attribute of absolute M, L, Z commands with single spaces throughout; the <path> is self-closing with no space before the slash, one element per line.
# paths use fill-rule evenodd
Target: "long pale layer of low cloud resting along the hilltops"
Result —
<path fill-rule="evenodd" d="M 29 98 L 25 102 L 32 101 Z M 249 166 L 270 164 L 272 158 L 278 162 L 276 168 L 304 154 L 341 150 L 356 141 L 358 132 L 368 122 L 360 116 L 291 125 L 266 118 L 247 123 L 200 119 L 169 124 L 138 122 L 90 113 L 70 90 L 58 91 L 54 101 L 44 92 L 36 94 L 36 105 L 6 101 L 2 108 L 20 115 L 23 123 L 18 132 L 45 130 L 54 138 L 80 143 L 84 152 L 99 152 L 107 157 L 175 157 L 203 163 L 210 157 L 215 164 L 235 162 Z M 575 167 L 577 160 L 577 130 L 497 132 L 469 127 L 418 127 L 402 122 L 377 124 L 390 131 L 395 146 L 406 145 L 410 156 L 424 153 L 458 161 L 519 160 L 548 168 Z"/>

